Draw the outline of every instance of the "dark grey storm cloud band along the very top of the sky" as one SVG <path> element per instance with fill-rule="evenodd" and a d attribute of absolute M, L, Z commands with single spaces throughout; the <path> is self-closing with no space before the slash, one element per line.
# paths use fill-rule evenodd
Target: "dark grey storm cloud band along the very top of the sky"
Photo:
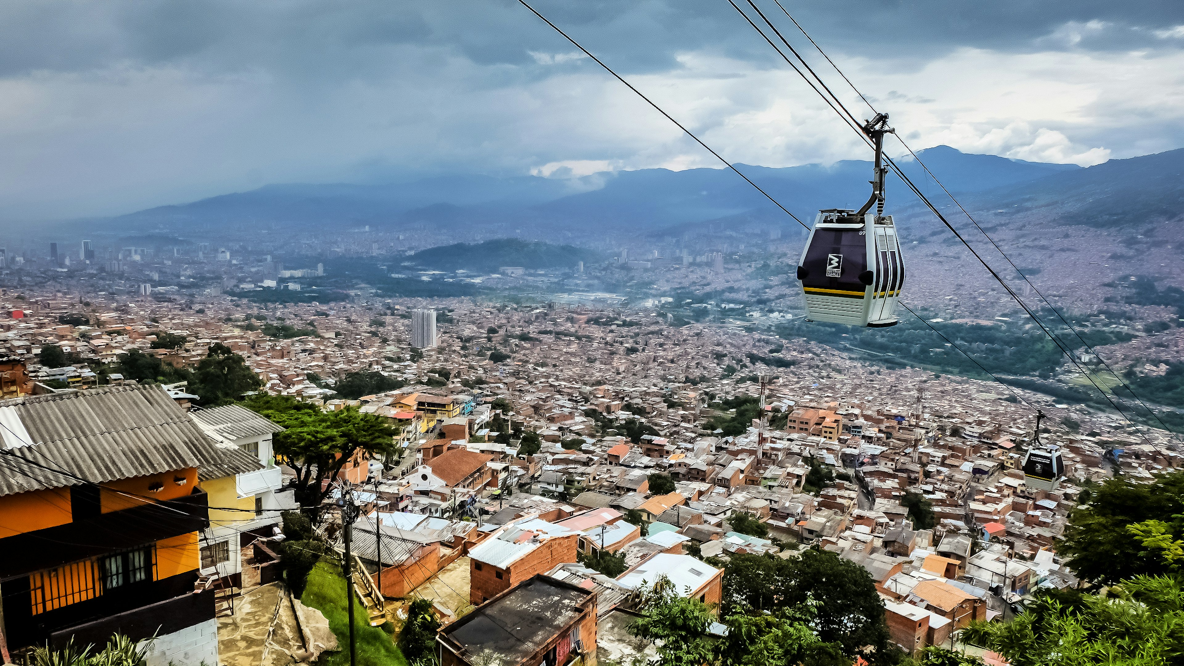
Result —
<path fill-rule="evenodd" d="M 746 9 L 748 5 L 739 2 Z M 719 49 L 770 58 L 767 45 L 726 0 L 556 1 L 535 7 L 626 71 L 661 70 L 686 50 Z M 766 15 L 794 34 L 770 0 Z M 1157 31 L 1184 24 L 1184 2 L 996 0 L 834 0 L 783 2 L 816 38 L 850 55 L 932 58 L 957 47 L 1154 47 Z M 1092 27 L 1087 27 L 1090 26 Z M 1074 26 L 1077 26 L 1075 30 Z M 1074 33 L 1077 37 L 1074 37 Z M 115 63 L 200 60 L 218 68 L 269 66 L 295 73 L 359 68 L 374 49 L 413 46 L 477 64 L 530 65 L 527 51 L 566 43 L 511 0 L 110 1 L 0 6 L 0 73 L 85 71 Z"/>

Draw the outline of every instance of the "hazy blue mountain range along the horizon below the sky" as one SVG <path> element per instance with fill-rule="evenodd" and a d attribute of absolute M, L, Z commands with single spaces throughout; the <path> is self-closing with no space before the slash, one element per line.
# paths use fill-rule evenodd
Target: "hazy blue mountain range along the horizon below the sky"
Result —
<path fill-rule="evenodd" d="M 966 154 L 946 146 L 920 154 L 950 191 L 983 211 L 1045 207 L 1054 216 L 1074 216 L 1077 224 L 1105 226 L 1120 224 L 1132 207 L 1139 214 L 1172 218 L 1184 204 L 1184 149 L 1088 168 Z M 910 158 L 897 164 L 931 199 L 948 204 L 920 165 Z M 870 191 L 871 164 L 867 161 L 736 167 L 807 224 L 822 207 L 858 207 Z M 889 177 L 887 192 L 888 212 L 907 212 L 918 205 L 895 177 Z M 185 236 L 195 230 L 240 233 L 258 224 L 283 225 L 291 231 L 439 225 L 459 241 L 498 236 L 549 239 L 543 233 L 562 231 L 568 242 L 577 242 L 581 236 L 609 231 L 677 233 L 738 216 L 797 226 L 735 173 L 712 168 L 639 169 L 568 180 L 445 175 L 386 185 L 269 185 L 88 220 L 88 225 L 121 233 Z"/>

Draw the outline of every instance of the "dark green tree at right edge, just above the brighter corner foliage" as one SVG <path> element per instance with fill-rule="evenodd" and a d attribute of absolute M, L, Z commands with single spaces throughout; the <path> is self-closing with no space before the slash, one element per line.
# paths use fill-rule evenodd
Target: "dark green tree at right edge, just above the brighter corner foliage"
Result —
<path fill-rule="evenodd" d="M 1079 577 L 1094 583 L 1166 574 L 1171 565 L 1127 527 L 1146 520 L 1175 525 L 1178 514 L 1184 514 L 1184 470 L 1158 475 L 1150 484 L 1109 479 L 1092 488 L 1088 504 L 1069 513 L 1057 551 L 1069 558 Z M 1178 531 L 1172 534 L 1184 538 Z"/>

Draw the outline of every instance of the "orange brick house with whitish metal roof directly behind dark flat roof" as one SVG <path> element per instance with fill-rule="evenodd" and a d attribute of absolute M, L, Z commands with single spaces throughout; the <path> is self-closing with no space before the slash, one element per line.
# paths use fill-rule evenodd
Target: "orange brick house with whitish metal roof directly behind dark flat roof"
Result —
<path fill-rule="evenodd" d="M 469 601 L 484 603 L 535 574 L 577 562 L 579 538 L 533 515 L 504 525 L 469 551 Z"/>

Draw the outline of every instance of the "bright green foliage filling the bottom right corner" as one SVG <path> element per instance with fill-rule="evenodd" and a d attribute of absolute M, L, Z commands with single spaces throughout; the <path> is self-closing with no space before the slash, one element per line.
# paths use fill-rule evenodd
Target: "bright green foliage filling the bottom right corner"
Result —
<path fill-rule="evenodd" d="M 972 622 L 963 638 L 1012 666 L 1159 666 L 1184 657 L 1184 589 L 1179 577 L 1135 576 L 1106 596 L 1067 604 L 1041 594 L 1011 622 Z"/>

